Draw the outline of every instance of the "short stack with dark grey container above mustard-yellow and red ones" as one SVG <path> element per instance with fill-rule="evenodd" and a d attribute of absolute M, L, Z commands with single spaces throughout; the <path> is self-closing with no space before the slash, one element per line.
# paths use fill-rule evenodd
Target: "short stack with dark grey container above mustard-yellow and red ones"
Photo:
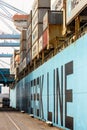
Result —
<path fill-rule="evenodd" d="M 62 37 L 63 12 L 47 11 L 43 17 L 43 48 L 55 48 L 55 38 Z"/>

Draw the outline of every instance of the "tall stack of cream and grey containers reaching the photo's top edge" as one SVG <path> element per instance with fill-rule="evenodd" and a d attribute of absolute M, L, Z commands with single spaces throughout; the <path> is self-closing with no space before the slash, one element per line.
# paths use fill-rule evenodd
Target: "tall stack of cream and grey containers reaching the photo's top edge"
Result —
<path fill-rule="evenodd" d="M 32 60 L 39 53 L 39 38 L 43 33 L 43 16 L 50 9 L 50 0 L 35 0 L 32 7 Z"/>

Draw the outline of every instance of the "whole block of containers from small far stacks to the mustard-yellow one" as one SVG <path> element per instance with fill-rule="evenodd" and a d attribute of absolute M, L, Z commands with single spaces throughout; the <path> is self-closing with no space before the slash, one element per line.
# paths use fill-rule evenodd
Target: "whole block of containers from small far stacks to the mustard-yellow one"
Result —
<path fill-rule="evenodd" d="M 51 11 L 50 7 L 50 0 L 34 1 L 27 21 L 28 28 L 22 30 L 20 66 L 25 63 L 25 57 L 28 65 L 43 49 L 54 47 L 51 41 L 55 37 L 62 36 L 63 12 Z"/>

